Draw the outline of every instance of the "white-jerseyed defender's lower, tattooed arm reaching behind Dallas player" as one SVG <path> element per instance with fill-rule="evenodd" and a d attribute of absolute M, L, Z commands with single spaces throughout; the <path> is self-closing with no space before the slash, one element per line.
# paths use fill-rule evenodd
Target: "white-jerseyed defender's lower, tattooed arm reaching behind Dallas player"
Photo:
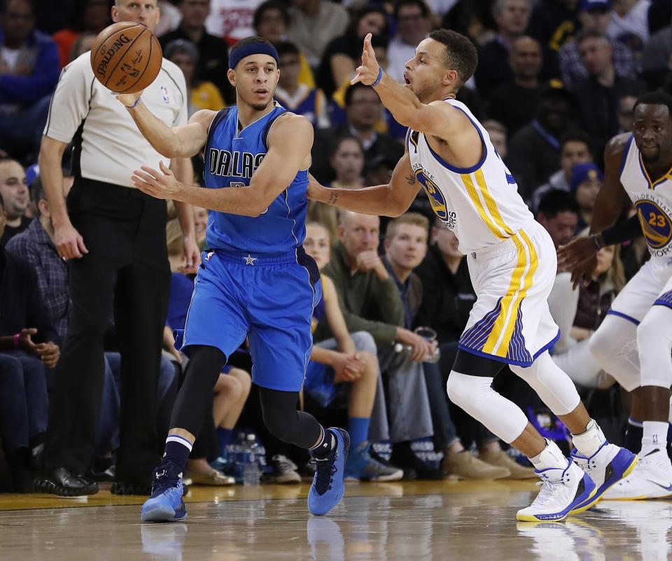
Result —
<path fill-rule="evenodd" d="M 386 185 L 363 189 L 329 189 L 310 176 L 308 198 L 361 214 L 400 216 L 411 206 L 419 188 L 408 153 L 405 153 Z"/>

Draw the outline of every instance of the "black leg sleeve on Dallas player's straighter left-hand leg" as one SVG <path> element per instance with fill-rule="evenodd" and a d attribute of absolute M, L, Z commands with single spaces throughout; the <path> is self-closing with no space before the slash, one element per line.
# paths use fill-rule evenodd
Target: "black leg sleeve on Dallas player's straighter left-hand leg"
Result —
<path fill-rule="evenodd" d="M 173 406 L 170 428 L 185 429 L 198 436 L 226 356 L 220 349 L 207 345 L 192 345 L 189 354 L 191 360 Z"/>

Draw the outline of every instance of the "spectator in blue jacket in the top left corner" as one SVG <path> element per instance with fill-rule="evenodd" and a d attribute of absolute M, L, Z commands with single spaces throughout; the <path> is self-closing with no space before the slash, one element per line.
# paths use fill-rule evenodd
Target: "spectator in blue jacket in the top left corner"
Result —
<path fill-rule="evenodd" d="M 58 81 L 58 48 L 35 29 L 29 0 L 8 0 L 0 16 L 0 148 L 34 161 Z"/>

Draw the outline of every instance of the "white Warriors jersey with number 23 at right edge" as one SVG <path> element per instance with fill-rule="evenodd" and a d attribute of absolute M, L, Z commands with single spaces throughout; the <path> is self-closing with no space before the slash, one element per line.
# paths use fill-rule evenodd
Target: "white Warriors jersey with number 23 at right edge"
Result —
<path fill-rule="evenodd" d="M 652 180 L 630 135 L 619 177 L 635 206 L 651 256 L 672 258 L 672 169 Z"/>

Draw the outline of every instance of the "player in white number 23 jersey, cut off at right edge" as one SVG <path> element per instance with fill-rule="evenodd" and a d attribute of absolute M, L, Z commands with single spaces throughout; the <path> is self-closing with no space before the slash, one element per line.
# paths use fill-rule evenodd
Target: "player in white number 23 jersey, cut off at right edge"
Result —
<path fill-rule="evenodd" d="M 619 293 L 590 350 L 602 368 L 632 392 L 629 438 L 640 461 L 614 485 L 609 499 L 672 497 L 667 454 L 672 385 L 672 97 L 661 92 L 636 102 L 632 134 L 619 134 L 605 148 L 605 181 L 595 202 L 589 238 L 559 252 L 575 282 L 590 277 L 600 247 L 644 233 L 651 258 Z M 629 200 L 628 200 L 629 198 Z M 612 226 L 624 203 L 636 216 Z M 637 431 L 636 427 L 643 430 Z"/>

